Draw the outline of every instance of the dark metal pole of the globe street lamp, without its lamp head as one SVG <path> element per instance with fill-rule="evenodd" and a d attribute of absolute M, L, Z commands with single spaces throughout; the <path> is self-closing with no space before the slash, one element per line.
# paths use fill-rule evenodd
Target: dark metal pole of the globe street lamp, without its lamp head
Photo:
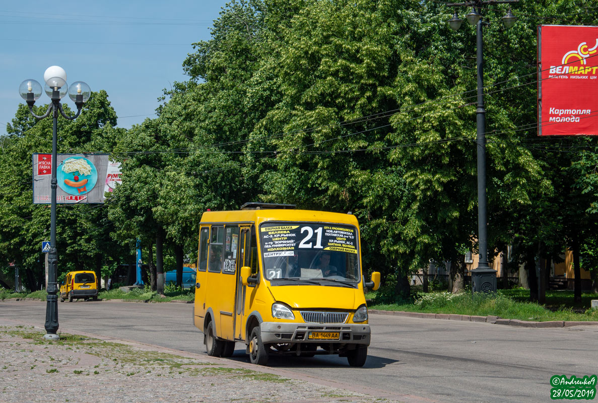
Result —
<path fill-rule="evenodd" d="M 57 170 L 57 121 L 58 121 L 58 108 L 60 102 L 60 93 L 58 90 L 54 90 L 52 92 L 52 117 L 53 117 L 53 125 L 52 125 L 52 178 L 51 178 L 51 210 L 50 210 L 50 252 L 48 253 L 48 285 L 46 288 L 46 292 L 48 293 L 46 297 L 46 306 L 45 306 L 45 330 L 47 334 L 44 335 L 44 338 L 49 339 L 58 339 L 60 338 L 59 335 L 56 334 L 58 331 L 58 284 L 56 281 L 57 277 L 57 261 L 58 261 L 58 252 L 56 250 L 56 187 L 58 181 L 56 179 L 56 170 Z"/>

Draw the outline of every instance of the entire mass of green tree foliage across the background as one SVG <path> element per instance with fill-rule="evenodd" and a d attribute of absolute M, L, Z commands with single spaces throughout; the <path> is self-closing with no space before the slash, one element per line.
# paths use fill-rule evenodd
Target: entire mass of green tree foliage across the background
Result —
<path fill-rule="evenodd" d="M 579 241 L 591 266 L 596 141 L 538 138 L 536 29 L 596 25 L 593 6 L 512 7 L 510 30 L 500 23 L 507 5 L 484 10 L 489 252 L 514 244 L 520 261 L 529 251 L 556 258 Z M 193 260 L 206 209 L 262 200 L 350 211 L 364 270 L 396 279 L 396 295 L 408 297 L 410 273 L 430 261 L 456 264 L 477 239 L 475 29 L 453 32 L 453 11 L 415 0 L 230 2 L 211 38 L 193 44 L 182 62 L 189 78 L 164 91 L 157 118 L 115 130 L 114 115 L 97 108 L 61 123 L 62 149 L 103 149 L 122 162 L 108 221 L 90 220 L 91 230 L 105 222 L 125 249 L 164 237 Z M 34 126 L 20 108 L 4 149 L 24 161 L 32 144 L 47 146 L 37 129 L 47 124 Z M 3 164 L 26 183 L 28 163 Z M 2 231 L 32 225 L 28 233 L 41 237 L 42 209 L 27 205 L 25 191 L 10 198 L 2 208 L 14 222 Z M 15 239 L 0 242 L 14 251 L 29 242 Z M 74 259 L 83 249 L 68 248 Z"/>

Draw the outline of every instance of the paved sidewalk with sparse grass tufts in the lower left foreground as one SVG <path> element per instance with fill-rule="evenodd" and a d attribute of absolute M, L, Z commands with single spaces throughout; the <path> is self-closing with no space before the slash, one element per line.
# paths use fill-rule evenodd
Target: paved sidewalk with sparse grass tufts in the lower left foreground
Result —
<path fill-rule="evenodd" d="M 388 402 L 143 345 L 0 326 L 0 402 Z"/>

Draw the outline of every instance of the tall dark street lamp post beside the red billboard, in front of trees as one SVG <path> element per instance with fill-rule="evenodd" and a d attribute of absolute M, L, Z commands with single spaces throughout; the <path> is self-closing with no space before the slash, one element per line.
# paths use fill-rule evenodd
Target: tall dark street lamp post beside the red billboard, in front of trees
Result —
<path fill-rule="evenodd" d="M 471 271 L 472 292 L 495 292 L 496 291 L 496 271 L 488 264 L 488 213 L 486 197 L 486 108 L 484 107 L 484 55 L 483 55 L 483 26 L 488 25 L 484 22 L 481 12 L 484 5 L 487 4 L 505 4 L 516 3 L 519 0 L 472 0 L 463 3 L 450 3 L 450 7 L 472 7 L 472 11 L 466 15 L 467 21 L 476 27 L 477 39 L 477 109 L 475 111 L 477 123 L 477 170 L 478 170 L 478 267 Z M 509 8 L 507 14 L 502 17 L 505 28 L 511 28 L 517 17 L 511 13 Z M 455 11 L 453 17 L 449 20 L 450 28 L 457 30 L 460 28 L 462 20 L 459 19 Z"/>

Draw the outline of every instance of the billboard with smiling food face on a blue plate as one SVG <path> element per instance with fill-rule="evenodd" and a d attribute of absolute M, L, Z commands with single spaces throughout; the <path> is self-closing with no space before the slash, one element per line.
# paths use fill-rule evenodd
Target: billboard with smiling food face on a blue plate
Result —
<path fill-rule="evenodd" d="M 33 154 L 33 204 L 51 203 L 51 154 Z M 108 154 L 58 154 L 56 203 L 103 203 L 120 183 L 120 163 Z"/>

